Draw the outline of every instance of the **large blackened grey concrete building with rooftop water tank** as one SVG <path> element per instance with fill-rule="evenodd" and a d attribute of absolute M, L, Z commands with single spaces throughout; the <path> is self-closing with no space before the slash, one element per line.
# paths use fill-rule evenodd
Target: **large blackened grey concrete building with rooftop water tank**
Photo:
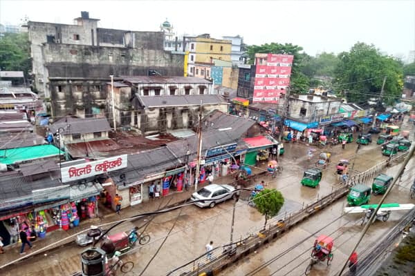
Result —
<path fill-rule="evenodd" d="M 163 32 L 98 28 L 88 12 L 75 24 L 28 22 L 34 85 L 54 116 L 103 113 L 109 75 L 183 75 L 184 55 L 163 48 Z"/>

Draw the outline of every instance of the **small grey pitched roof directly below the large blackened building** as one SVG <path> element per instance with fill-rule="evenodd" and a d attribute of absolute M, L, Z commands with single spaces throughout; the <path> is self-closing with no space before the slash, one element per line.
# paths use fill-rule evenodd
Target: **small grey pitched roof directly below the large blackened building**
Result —
<path fill-rule="evenodd" d="M 107 118 L 65 117 L 50 125 L 51 132 L 55 133 L 59 130 L 59 128 L 64 129 L 61 130 L 62 135 L 69 135 L 73 133 L 84 134 L 111 130 Z"/>

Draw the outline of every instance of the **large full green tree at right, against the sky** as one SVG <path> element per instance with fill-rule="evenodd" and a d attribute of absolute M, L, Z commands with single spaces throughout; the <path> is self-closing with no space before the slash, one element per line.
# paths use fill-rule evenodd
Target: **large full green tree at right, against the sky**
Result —
<path fill-rule="evenodd" d="M 335 68 L 336 92 L 344 92 L 348 101 L 366 104 L 378 98 L 383 78 L 387 76 L 382 101 L 393 103 L 403 88 L 403 68 L 400 61 L 382 55 L 374 45 L 358 42 L 350 52 L 338 55 Z"/>

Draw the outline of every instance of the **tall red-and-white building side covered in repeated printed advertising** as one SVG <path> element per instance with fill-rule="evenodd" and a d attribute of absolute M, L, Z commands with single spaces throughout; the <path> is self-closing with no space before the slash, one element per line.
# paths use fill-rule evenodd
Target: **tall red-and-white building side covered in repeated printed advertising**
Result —
<path fill-rule="evenodd" d="M 277 103 L 290 85 L 293 55 L 255 54 L 255 86 L 252 101 Z"/>

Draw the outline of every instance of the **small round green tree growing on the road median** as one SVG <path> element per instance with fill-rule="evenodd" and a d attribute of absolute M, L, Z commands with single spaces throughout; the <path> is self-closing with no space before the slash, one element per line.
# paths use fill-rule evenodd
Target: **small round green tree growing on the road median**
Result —
<path fill-rule="evenodd" d="M 255 206 L 257 206 L 259 213 L 265 216 L 265 229 L 266 221 L 277 215 L 279 210 L 282 208 L 282 205 L 284 204 L 284 197 L 278 190 L 264 189 L 255 195 L 254 203 Z"/>

